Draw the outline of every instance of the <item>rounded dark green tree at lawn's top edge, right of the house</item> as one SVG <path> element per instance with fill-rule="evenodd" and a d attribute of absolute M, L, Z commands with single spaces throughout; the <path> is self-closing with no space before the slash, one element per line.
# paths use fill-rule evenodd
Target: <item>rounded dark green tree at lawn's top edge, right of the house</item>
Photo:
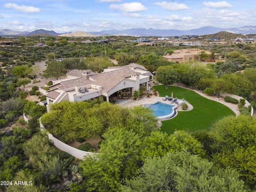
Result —
<path fill-rule="evenodd" d="M 156 71 L 156 80 L 167 89 L 169 85 L 178 81 L 178 72 L 170 66 L 160 66 Z"/>

